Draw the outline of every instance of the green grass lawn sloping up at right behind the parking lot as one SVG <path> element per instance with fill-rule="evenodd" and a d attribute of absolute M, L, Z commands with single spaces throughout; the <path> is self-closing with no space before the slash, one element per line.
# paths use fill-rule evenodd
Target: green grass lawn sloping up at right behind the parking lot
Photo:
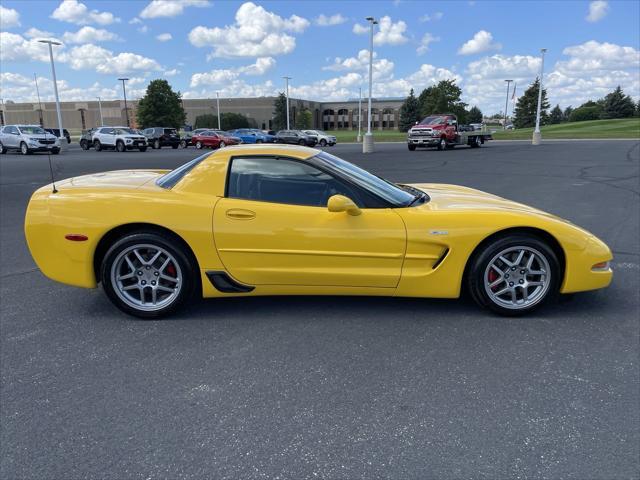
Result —
<path fill-rule="evenodd" d="M 640 139 L 640 118 L 615 120 L 589 120 L 586 122 L 561 123 L 540 128 L 545 138 L 638 138 Z M 533 128 L 498 130 L 493 134 L 496 140 L 529 140 Z"/>

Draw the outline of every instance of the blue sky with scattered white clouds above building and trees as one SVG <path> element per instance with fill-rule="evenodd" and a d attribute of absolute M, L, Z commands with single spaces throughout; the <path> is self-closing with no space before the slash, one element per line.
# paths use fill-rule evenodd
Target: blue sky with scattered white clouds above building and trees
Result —
<path fill-rule="evenodd" d="M 548 49 L 552 103 L 579 105 L 621 84 L 640 97 L 637 1 L 279 1 L 2 0 L 2 98 L 33 101 L 33 75 L 52 98 L 48 54 L 56 38 L 64 100 L 144 94 L 166 78 L 186 98 L 272 95 L 293 77 L 292 96 L 357 97 L 367 89 L 368 27 L 380 20 L 374 96 L 405 96 L 455 78 L 463 99 L 504 109 L 504 79 L 521 93 Z"/>

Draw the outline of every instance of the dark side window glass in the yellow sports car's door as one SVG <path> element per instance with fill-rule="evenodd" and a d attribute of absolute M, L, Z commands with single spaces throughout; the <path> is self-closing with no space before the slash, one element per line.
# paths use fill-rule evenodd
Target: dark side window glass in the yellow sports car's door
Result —
<path fill-rule="evenodd" d="M 269 157 L 234 158 L 230 169 L 229 198 L 326 207 L 329 197 L 341 194 L 362 206 L 354 189 L 303 162 Z"/>

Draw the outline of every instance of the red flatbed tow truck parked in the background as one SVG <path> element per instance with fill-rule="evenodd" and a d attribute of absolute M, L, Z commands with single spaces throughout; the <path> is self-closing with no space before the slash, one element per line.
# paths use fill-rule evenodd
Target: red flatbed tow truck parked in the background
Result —
<path fill-rule="evenodd" d="M 407 146 L 412 151 L 418 147 L 438 147 L 438 150 L 445 150 L 456 145 L 480 147 L 488 140 L 492 140 L 491 133 L 484 128 L 476 130 L 470 125 L 458 125 L 455 115 L 436 113 L 411 127 L 407 135 Z"/>

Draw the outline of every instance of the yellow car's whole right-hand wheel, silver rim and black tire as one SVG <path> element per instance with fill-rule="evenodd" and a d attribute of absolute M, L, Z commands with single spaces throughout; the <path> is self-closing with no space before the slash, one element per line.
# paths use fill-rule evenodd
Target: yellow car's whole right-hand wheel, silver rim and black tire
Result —
<path fill-rule="evenodd" d="M 478 305 L 516 316 L 557 296 L 561 276 L 558 257 L 547 243 L 516 234 L 499 238 L 478 252 L 466 280 Z"/>

